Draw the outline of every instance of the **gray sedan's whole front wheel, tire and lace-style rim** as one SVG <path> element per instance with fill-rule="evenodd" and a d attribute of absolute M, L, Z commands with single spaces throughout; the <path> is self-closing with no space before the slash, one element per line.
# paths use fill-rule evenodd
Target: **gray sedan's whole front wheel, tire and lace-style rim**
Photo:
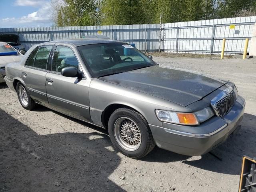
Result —
<path fill-rule="evenodd" d="M 108 133 L 113 145 L 131 158 L 146 156 L 156 145 L 146 119 L 128 108 L 117 109 L 111 114 Z"/>

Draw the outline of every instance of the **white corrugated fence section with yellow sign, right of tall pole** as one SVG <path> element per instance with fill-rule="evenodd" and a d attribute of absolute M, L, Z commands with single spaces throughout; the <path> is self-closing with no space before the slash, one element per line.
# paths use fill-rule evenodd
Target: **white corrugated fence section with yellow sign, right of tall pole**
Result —
<path fill-rule="evenodd" d="M 178 53 L 219 54 L 226 38 L 225 53 L 244 51 L 251 39 L 256 16 L 164 24 L 161 49 Z M 250 40 L 248 50 L 250 48 Z"/>

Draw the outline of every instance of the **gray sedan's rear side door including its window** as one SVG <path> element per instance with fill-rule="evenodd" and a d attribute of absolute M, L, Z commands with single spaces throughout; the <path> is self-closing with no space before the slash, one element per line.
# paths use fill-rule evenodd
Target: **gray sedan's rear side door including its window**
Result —
<path fill-rule="evenodd" d="M 28 56 L 22 69 L 22 80 L 29 90 L 31 98 L 45 106 L 48 106 L 46 96 L 45 76 L 48 72 L 47 64 L 50 63 L 49 55 L 52 45 L 36 47 Z"/>

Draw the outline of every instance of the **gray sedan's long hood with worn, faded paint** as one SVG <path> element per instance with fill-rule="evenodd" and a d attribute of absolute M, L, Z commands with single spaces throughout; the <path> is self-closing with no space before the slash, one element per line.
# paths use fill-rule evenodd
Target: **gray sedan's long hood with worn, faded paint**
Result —
<path fill-rule="evenodd" d="M 220 88 L 225 81 L 178 68 L 152 66 L 104 76 L 106 82 L 187 106 Z"/>

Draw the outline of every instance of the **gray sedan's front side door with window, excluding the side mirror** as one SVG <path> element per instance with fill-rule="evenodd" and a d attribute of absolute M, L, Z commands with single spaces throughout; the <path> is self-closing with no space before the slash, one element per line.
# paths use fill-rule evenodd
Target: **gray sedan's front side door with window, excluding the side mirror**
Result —
<path fill-rule="evenodd" d="M 56 46 L 52 59 L 52 70 L 46 74 L 49 106 L 63 114 L 91 122 L 89 112 L 90 80 L 62 76 L 61 70 L 67 66 L 74 66 L 81 70 L 72 48 Z"/>

